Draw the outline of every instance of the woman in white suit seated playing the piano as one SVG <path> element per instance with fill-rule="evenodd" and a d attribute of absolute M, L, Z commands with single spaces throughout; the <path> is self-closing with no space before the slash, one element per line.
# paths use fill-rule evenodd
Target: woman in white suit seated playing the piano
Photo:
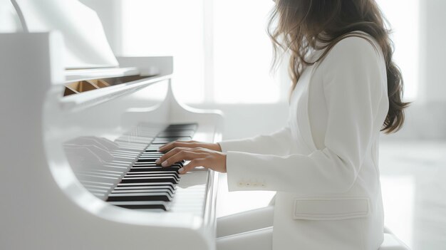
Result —
<path fill-rule="evenodd" d="M 277 191 L 274 222 L 271 208 L 232 217 L 246 230 L 217 239 L 219 249 L 378 249 L 379 135 L 400 129 L 408 105 L 378 6 L 277 0 L 269 26 L 275 51 L 291 54 L 289 124 L 245 140 L 173 142 L 159 162 L 227 172 L 230 190 Z M 239 233 L 238 223 L 221 219 L 218 231 Z"/>

